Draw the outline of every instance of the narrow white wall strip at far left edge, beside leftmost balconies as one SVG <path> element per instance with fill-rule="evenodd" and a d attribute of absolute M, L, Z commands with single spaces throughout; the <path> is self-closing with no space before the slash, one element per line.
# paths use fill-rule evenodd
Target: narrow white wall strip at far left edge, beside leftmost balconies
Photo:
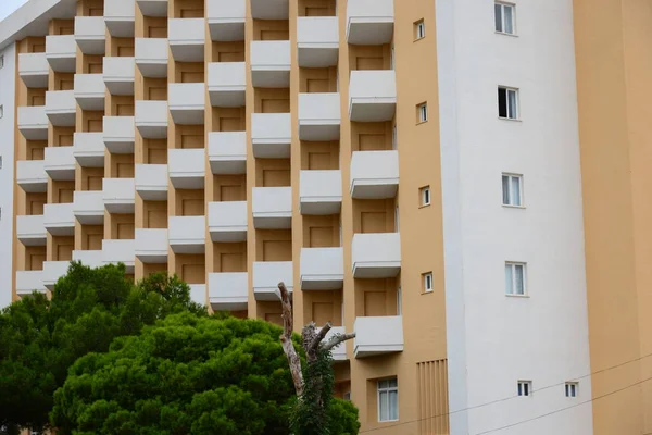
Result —
<path fill-rule="evenodd" d="M 12 244 L 13 244 L 13 186 L 14 186 L 14 98 L 15 98 L 15 45 L 0 50 L 4 66 L 0 69 L 0 308 L 11 303 Z"/>

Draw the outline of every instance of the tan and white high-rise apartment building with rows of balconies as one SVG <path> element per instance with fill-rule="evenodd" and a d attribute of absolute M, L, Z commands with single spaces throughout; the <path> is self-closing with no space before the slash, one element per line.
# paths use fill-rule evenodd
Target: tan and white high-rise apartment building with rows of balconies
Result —
<path fill-rule="evenodd" d="M 650 29 L 642 0 L 29 0 L 0 304 L 122 262 L 281 323 L 283 281 L 356 333 L 361 433 L 652 432 Z"/>

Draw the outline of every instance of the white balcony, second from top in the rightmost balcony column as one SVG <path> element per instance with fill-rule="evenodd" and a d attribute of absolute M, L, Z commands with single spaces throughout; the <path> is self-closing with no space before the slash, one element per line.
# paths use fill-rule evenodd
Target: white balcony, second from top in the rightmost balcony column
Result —
<path fill-rule="evenodd" d="M 392 70 L 351 71 L 349 117 L 356 122 L 391 121 L 397 110 L 397 80 Z"/>

